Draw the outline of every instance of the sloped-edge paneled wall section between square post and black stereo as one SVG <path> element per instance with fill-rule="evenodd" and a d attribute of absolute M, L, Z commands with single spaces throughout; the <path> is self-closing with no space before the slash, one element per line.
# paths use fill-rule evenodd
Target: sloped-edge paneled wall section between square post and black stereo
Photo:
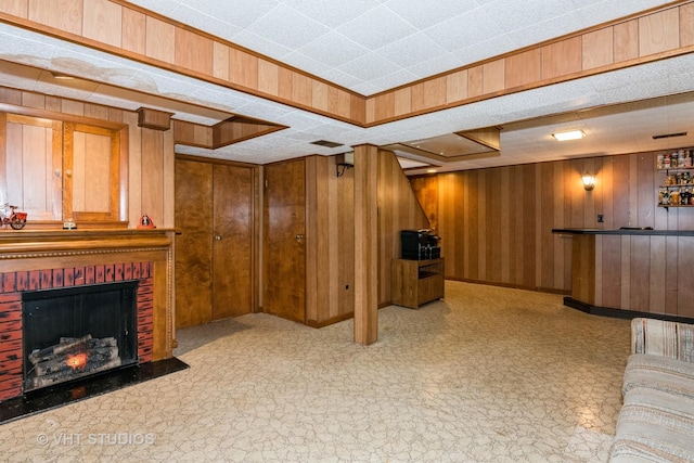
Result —
<path fill-rule="evenodd" d="M 393 259 L 400 258 L 400 231 L 429 227 L 398 159 L 378 150 L 378 306 L 389 305 Z M 376 239 L 376 236 L 374 236 Z"/>

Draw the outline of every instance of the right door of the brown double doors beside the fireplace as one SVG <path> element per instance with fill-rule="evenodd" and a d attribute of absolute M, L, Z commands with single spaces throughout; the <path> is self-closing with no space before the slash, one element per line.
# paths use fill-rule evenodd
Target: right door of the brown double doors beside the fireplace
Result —
<path fill-rule="evenodd" d="M 214 167 L 213 320 L 253 311 L 254 171 Z"/>

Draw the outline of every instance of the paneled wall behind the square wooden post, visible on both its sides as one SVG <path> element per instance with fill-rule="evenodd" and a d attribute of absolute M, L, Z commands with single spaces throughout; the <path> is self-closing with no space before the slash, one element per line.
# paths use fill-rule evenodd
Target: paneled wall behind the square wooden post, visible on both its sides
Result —
<path fill-rule="evenodd" d="M 307 158 L 307 320 L 321 326 L 355 310 L 355 170 L 335 157 Z M 395 155 L 378 150 L 378 306 L 390 304 L 390 265 L 400 257 L 400 230 L 427 228 L 422 206 Z"/>

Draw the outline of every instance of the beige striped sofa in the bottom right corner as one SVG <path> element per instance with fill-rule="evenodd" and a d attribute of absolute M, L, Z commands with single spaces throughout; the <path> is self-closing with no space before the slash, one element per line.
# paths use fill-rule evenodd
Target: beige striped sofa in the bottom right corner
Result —
<path fill-rule="evenodd" d="M 694 462 L 694 324 L 637 318 L 611 462 Z"/>

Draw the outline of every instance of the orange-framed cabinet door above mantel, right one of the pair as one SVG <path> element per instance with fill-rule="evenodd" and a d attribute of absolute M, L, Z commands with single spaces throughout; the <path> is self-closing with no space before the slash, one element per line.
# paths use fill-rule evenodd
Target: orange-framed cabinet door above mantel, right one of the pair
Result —
<path fill-rule="evenodd" d="M 64 124 L 63 217 L 118 221 L 120 215 L 120 132 Z"/>

